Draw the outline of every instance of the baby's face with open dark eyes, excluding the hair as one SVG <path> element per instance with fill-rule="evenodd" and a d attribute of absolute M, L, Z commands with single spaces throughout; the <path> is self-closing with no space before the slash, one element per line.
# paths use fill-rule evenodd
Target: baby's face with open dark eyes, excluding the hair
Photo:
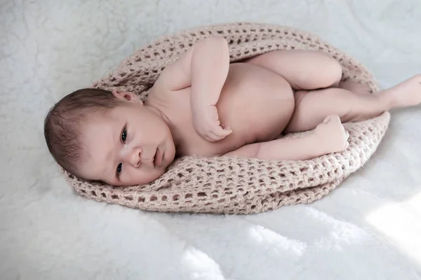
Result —
<path fill-rule="evenodd" d="M 83 125 L 86 179 L 113 186 L 150 183 L 166 172 L 175 157 L 168 125 L 142 102 L 128 102 L 107 112 L 91 113 Z"/>

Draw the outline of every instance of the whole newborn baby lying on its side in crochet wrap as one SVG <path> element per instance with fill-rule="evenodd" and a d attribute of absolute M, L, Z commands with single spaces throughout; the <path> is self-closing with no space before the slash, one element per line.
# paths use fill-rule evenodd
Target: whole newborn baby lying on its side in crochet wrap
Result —
<path fill-rule="evenodd" d="M 184 155 L 308 160 L 340 152 L 349 135 L 342 123 L 421 102 L 421 75 L 375 94 L 341 77 L 335 59 L 312 50 L 230 64 L 227 41 L 214 36 L 168 64 L 145 102 L 133 92 L 76 90 L 53 106 L 44 133 L 68 172 L 133 186 Z"/>

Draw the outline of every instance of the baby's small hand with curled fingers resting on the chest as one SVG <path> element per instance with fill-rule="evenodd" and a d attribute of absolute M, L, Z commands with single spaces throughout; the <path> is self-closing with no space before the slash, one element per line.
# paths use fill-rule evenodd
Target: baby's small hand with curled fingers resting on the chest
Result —
<path fill-rule="evenodd" d="M 193 125 L 197 134 L 210 142 L 220 141 L 232 133 L 229 127 L 220 126 L 216 106 L 208 105 L 193 111 Z"/>

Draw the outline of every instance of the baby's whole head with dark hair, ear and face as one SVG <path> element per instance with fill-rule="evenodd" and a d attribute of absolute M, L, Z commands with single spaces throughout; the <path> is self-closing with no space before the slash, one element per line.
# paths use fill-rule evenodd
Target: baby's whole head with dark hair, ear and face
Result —
<path fill-rule="evenodd" d="M 133 92 L 76 90 L 48 112 L 44 135 L 67 172 L 113 186 L 150 183 L 175 157 L 163 114 Z"/>

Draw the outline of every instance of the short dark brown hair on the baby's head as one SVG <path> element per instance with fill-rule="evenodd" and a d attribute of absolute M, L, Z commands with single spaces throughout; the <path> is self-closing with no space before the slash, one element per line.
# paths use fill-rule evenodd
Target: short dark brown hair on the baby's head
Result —
<path fill-rule="evenodd" d="M 108 90 L 85 88 L 63 97 L 48 111 L 44 137 L 54 160 L 67 172 L 77 176 L 83 159 L 81 124 L 88 114 L 121 105 Z"/>

